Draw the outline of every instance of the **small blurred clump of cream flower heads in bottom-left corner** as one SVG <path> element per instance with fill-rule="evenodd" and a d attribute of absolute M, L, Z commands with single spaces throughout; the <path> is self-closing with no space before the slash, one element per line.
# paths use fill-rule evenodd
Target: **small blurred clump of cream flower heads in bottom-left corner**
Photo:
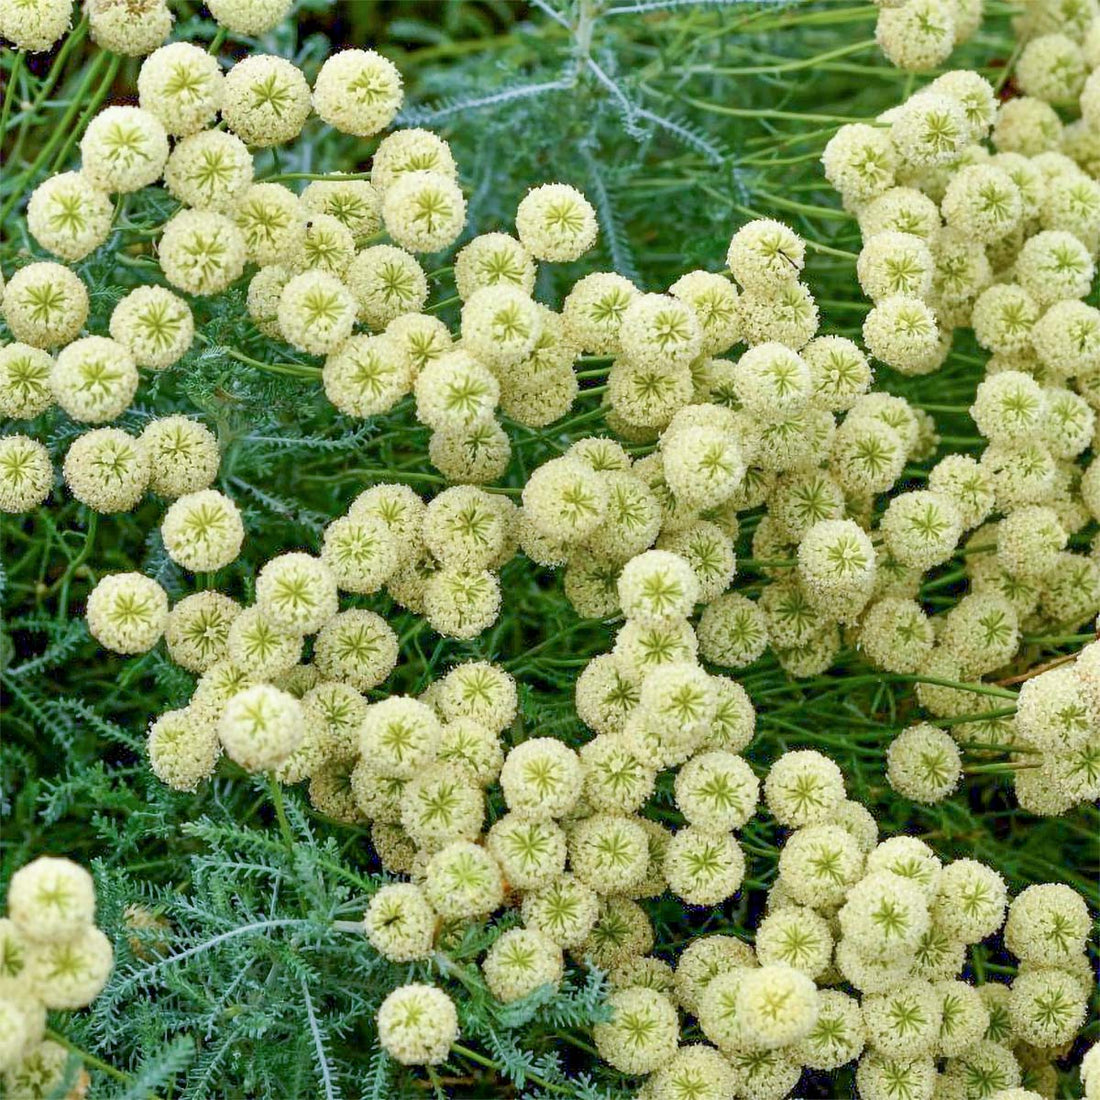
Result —
<path fill-rule="evenodd" d="M 46 1012 L 90 1004 L 114 959 L 95 924 L 96 888 L 72 860 L 40 856 L 8 884 L 0 917 L 0 1079 L 11 1097 L 50 1096 L 68 1081 L 84 1094 L 88 1075 L 66 1076 L 68 1052 L 45 1038 Z"/>

